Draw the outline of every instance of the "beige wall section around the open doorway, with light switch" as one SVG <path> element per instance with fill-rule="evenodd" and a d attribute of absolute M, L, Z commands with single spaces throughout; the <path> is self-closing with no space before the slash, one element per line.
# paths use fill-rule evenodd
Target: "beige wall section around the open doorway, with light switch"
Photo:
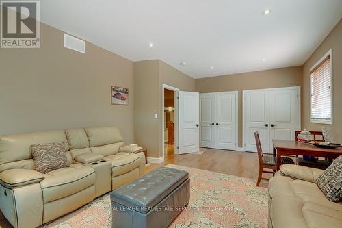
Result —
<path fill-rule="evenodd" d="M 134 72 L 135 142 L 148 150 L 148 157 L 159 158 L 163 156 L 162 85 L 194 92 L 195 80 L 161 60 L 135 62 Z"/>

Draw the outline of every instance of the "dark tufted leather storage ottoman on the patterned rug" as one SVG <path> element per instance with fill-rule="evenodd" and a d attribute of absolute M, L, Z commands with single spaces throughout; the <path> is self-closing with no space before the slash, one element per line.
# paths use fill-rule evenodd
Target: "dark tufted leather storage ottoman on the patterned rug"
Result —
<path fill-rule="evenodd" d="M 111 192 L 111 226 L 168 227 L 189 199 L 189 174 L 174 168 L 158 168 Z"/>

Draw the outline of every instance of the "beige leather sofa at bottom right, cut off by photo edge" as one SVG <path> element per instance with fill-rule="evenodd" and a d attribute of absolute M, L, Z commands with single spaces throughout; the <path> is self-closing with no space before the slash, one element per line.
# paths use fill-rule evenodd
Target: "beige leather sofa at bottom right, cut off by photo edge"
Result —
<path fill-rule="evenodd" d="M 342 227 L 342 202 L 329 201 L 315 183 L 323 171 L 291 164 L 280 166 L 268 185 L 268 227 Z"/>

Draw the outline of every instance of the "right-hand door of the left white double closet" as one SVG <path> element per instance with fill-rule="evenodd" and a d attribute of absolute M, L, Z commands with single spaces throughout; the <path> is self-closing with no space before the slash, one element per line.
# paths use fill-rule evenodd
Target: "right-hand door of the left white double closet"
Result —
<path fill-rule="evenodd" d="M 215 148 L 236 149 L 236 93 L 218 93 L 215 102 Z"/>

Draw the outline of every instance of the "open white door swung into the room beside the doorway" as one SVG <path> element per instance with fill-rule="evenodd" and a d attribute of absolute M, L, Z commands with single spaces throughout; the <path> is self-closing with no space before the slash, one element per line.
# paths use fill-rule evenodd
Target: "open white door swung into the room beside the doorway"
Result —
<path fill-rule="evenodd" d="M 179 92 L 179 153 L 198 152 L 199 94 Z"/>

